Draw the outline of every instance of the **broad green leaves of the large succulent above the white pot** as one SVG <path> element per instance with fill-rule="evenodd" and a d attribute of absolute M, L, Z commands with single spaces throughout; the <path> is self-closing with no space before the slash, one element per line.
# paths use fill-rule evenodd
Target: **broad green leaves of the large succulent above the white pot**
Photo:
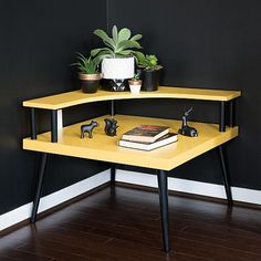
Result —
<path fill-rule="evenodd" d="M 105 48 L 98 48 L 91 51 L 91 55 L 94 56 L 95 62 L 100 63 L 104 58 L 127 58 L 136 56 L 134 49 L 142 49 L 137 42 L 142 39 L 142 34 L 135 34 L 130 38 L 132 32 L 127 28 L 123 28 L 118 31 L 114 25 L 112 29 L 112 36 L 102 30 L 96 29 L 94 34 L 103 40 Z"/>

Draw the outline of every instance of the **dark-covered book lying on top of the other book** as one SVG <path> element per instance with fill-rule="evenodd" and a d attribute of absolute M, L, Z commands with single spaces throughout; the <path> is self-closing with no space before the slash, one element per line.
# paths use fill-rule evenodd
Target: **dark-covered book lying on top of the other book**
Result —
<path fill-rule="evenodd" d="M 169 132 L 167 126 L 140 125 L 123 134 L 122 139 L 154 143 Z"/>

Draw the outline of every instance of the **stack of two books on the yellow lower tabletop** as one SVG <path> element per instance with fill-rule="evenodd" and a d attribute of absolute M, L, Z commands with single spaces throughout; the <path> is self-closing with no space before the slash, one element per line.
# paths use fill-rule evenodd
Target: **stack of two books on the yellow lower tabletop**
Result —
<path fill-rule="evenodd" d="M 127 148 L 152 150 L 178 140 L 176 133 L 169 127 L 158 125 L 140 125 L 123 134 L 118 145 Z"/>

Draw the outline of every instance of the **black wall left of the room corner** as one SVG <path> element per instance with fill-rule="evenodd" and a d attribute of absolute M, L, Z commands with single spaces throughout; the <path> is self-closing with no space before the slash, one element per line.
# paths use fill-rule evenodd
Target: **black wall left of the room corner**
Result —
<path fill-rule="evenodd" d="M 39 155 L 22 150 L 29 111 L 22 101 L 77 88 L 70 64 L 75 51 L 95 45 L 92 32 L 106 28 L 105 0 L 3 0 L 0 4 L 0 215 L 32 200 Z M 65 109 L 65 122 L 103 114 L 105 104 Z M 74 111 L 75 115 L 75 111 Z M 49 115 L 39 112 L 40 130 Z M 53 156 L 45 189 L 50 194 L 104 169 L 97 163 Z"/>

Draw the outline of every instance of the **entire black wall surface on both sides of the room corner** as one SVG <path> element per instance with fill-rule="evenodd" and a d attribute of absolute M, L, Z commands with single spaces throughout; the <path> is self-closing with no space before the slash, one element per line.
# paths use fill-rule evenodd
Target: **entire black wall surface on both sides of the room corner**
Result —
<path fill-rule="evenodd" d="M 261 3 L 259 0 L 3 0 L 0 8 L 0 213 L 32 200 L 38 155 L 21 149 L 29 135 L 24 100 L 77 87 L 74 52 L 96 45 L 96 28 L 128 27 L 144 35 L 144 50 L 164 65 L 163 84 L 241 90 L 237 104 L 240 137 L 228 153 L 232 185 L 261 189 Z M 218 121 L 215 103 L 126 101 L 122 113 L 180 117 L 192 105 L 194 118 Z M 75 116 L 75 111 L 76 115 Z M 106 104 L 65 109 L 65 123 L 103 114 Z M 73 116 L 74 115 L 74 116 Z M 40 129 L 49 115 L 39 112 Z M 106 166 L 54 156 L 44 194 L 50 194 Z M 220 184 L 215 152 L 186 164 L 176 177 Z"/>

